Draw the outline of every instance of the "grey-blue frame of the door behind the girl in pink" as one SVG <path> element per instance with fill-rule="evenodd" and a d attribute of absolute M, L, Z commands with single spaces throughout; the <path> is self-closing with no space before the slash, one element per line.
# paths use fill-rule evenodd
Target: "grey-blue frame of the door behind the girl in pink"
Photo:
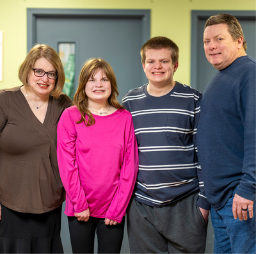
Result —
<path fill-rule="evenodd" d="M 52 8 L 28 8 L 27 9 L 27 50 L 36 44 L 36 18 L 125 18 L 141 19 L 142 41 L 141 45 L 150 38 L 150 10 L 120 10 L 120 9 L 52 9 Z"/>

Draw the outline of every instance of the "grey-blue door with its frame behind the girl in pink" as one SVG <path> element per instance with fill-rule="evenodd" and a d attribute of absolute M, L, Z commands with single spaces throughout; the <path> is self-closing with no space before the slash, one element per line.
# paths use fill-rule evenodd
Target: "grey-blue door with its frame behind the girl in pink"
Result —
<path fill-rule="evenodd" d="M 84 61 L 103 58 L 116 74 L 118 100 L 127 91 L 147 82 L 141 67 L 140 48 L 149 38 L 148 10 L 28 9 L 28 50 L 35 43 L 48 44 L 56 51 L 60 43 L 76 44 L 76 87 Z M 65 253 L 72 253 L 65 214 L 61 221 L 61 238 Z M 122 253 L 129 253 L 126 230 Z"/>

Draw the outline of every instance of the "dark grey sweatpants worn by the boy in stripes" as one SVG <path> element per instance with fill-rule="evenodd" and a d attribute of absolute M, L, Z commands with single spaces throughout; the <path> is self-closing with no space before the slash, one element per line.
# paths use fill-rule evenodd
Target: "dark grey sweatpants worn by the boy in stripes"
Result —
<path fill-rule="evenodd" d="M 165 207 L 133 197 L 127 209 L 131 253 L 204 253 L 207 224 L 192 193 Z"/>

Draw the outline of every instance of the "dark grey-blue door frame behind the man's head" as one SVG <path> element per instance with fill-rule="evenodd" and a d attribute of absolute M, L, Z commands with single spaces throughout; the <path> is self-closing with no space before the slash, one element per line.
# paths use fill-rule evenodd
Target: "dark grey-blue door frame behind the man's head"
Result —
<path fill-rule="evenodd" d="M 235 16 L 240 20 L 255 20 L 255 11 L 230 11 L 230 10 L 209 10 L 209 11 L 191 11 L 191 79 L 190 84 L 197 88 L 197 74 L 198 67 L 195 63 L 198 63 L 198 52 L 197 45 L 202 44 L 203 50 L 203 35 L 198 38 L 198 22 L 199 20 L 207 20 L 212 15 L 217 15 L 219 13 L 228 13 Z"/>

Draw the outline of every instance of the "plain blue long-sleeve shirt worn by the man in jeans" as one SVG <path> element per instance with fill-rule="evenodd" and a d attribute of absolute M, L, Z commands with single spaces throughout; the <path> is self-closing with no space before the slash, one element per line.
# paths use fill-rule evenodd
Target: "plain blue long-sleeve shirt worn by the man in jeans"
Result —
<path fill-rule="evenodd" d="M 255 59 L 237 58 L 205 89 L 198 123 L 198 159 L 207 200 L 221 209 L 234 188 L 255 200 Z"/>

